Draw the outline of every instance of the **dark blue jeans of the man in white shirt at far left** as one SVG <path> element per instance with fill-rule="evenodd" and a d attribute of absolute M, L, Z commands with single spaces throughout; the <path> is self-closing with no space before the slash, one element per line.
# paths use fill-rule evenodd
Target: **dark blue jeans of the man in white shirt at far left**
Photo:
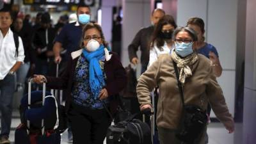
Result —
<path fill-rule="evenodd" d="M 15 75 L 8 74 L 0 80 L 1 134 L 9 136 L 12 122 L 12 100 L 15 92 Z"/>

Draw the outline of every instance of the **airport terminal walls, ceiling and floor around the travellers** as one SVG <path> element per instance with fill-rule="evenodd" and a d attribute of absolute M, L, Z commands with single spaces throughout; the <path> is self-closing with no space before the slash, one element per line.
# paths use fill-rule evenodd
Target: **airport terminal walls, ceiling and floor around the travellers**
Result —
<path fill-rule="evenodd" d="M 191 17 L 204 20 L 205 42 L 218 51 L 222 74 L 217 81 L 235 122 L 235 131 L 228 134 L 211 111 L 207 128 L 209 144 L 256 143 L 255 0 L 0 0 L 0 8 L 9 6 L 17 18 L 27 19 L 31 26 L 35 26 L 37 13 L 49 12 L 51 26 L 57 29 L 60 23 L 77 21 L 77 5 L 81 3 L 90 6 L 90 20 L 102 27 L 109 51 L 118 53 L 124 67 L 131 64 L 129 45 L 141 28 L 152 25 L 151 16 L 156 8 L 172 15 L 177 26 L 186 26 Z M 139 78 L 143 68 L 140 48 L 136 54 L 138 64 L 133 68 Z M 17 84 L 12 104 L 11 143 L 20 124 L 20 99 L 26 92 L 27 84 Z M 61 144 L 72 143 L 68 137 L 68 132 L 63 132 Z"/>

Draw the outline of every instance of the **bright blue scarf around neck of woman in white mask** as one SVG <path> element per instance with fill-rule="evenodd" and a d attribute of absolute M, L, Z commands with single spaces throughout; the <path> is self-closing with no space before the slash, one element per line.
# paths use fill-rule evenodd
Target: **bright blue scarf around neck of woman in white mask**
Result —
<path fill-rule="evenodd" d="M 100 45 L 97 51 L 88 52 L 83 49 L 83 55 L 89 61 L 89 84 L 94 99 L 98 99 L 101 88 L 105 85 L 103 72 L 99 60 L 104 56 L 104 46 Z"/>

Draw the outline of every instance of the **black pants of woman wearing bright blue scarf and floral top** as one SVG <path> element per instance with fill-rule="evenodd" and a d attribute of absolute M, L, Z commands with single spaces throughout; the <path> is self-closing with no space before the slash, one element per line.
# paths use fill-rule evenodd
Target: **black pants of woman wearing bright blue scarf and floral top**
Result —
<path fill-rule="evenodd" d="M 73 144 L 103 144 L 111 119 L 106 109 L 90 109 L 72 103 L 68 112 Z"/>

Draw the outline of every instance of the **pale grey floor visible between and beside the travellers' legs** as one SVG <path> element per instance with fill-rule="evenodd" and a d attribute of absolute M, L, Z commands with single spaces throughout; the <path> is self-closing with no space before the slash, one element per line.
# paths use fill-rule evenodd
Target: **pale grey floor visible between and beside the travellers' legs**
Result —
<path fill-rule="evenodd" d="M 19 125 L 19 113 L 13 113 L 13 120 L 12 120 L 12 131 L 10 134 L 10 140 L 14 141 L 14 129 Z M 236 124 L 236 131 L 239 132 L 242 130 L 241 124 Z M 241 135 L 235 134 L 228 134 L 227 130 L 224 128 L 223 124 L 220 123 L 211 123 L 208 126 L 207 132 L 209 134 L 209 144 L 242 144 L 241 142 Z M 106 143 L 106 141 L 104 142 Z M 61 144 L 68 144 L 68 136 L 67 131 L 63 132 L 61 136 Z"/>

